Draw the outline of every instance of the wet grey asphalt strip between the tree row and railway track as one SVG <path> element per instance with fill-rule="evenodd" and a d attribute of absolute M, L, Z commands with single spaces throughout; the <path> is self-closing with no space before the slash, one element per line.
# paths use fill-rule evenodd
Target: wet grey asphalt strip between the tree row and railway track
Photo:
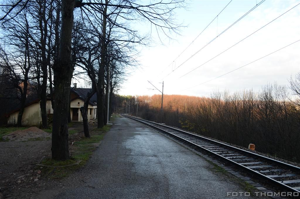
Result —
<path fill-rule="evenodd" d="M 116 118 L 69 185 L 38 198 L 235 198 L 241 186 L 202 157 L 128 118 Z M 247 198 L 252 197 L 236 197 Z"/>

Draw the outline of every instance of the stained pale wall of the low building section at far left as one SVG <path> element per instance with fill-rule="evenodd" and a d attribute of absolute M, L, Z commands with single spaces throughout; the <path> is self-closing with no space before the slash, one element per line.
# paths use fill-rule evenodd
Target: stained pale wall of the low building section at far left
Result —
<path fill-rule="evenodd" d="M 17 124 L 18 122 L 19 111 L 11 114 L 7 119 L 7 124 Z M 24 109 L 24 113 L 22 116 L 22 125 L 24 126 L 32 126 L 32 125 L 40 125 L 42 122 L 41 117 L 41 108 L 40 103 L 31 104 Z"/>

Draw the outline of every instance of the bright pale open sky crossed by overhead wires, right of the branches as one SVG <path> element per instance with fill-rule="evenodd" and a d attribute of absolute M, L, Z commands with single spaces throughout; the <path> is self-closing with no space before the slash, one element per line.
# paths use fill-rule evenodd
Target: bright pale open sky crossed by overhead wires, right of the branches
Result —
<path fill-rule="evenodd" d="M 171 35 L 174 40 L 160 35 L 162 44 L 154 36 L 151 47 L 140 46 L 140 56 L 137 57 L 140 67 L 127 71 L 130 75 L 118 94 L 161 94 L 158 90 L 151 90 L 154 87 L 148 81 L 160 90 L 164 81 L 164 94 L 206 97 L 214 90 L 229 90 L 231 93 L 244 89 L 259 91 L 262 86 L 274 82 L 288 86 L 288 79 L 300 71 L 300 5 L 288 11 L 299 4 L 299 0 L 266 0 L 217 37 L 260 1 L 190 1 L 187 10 L 176 11 L 176 19 L 187 27 L 180 30 L 180 35 Z M 145 27 L 140 24 L 137 26 L 145 31 Z M 262 26 L 265 27 L 260 29 Z M 292 44 L 295 41 L 298 42 Z M 222 53 L 234 44 L 234 47 Z"/>

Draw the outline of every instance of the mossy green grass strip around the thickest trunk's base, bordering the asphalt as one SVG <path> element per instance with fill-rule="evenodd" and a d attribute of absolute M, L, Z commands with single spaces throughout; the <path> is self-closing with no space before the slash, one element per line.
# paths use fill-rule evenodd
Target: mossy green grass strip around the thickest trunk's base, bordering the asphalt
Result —
<path fill-rule="evenodd" d="M 50 167 L 43 167 L 41 170 L 41 174 L 43 177 L 52 178 L 52 179 L 61 179 L 66 176 L 69 176 L 74 171 L 80 169 L 83 167 L 88 159 L 93 154 L 93 151 L 96 149 L 97 143 L 99 143 L 108 130 L 110 130 L 110 125 L 106 125 L 101 129 L 94 128 L 91 129 L 90 138 L 82 138 L 79 141 L 75 141 L 73 145 L 73 154 L 71 154 L 70 160 L 66 161 L 56 161 L 52 159 L 44 159 L 41 164 L 47 165 Z M 78 130 L 70 130 L 69 134 L 72 135 L 72 133 L 77 133 Z M 79 162 L 80 161 L 80 162 Z M 75 164 L 79 162 L 79 164 Z M 59 166 L 65 166 L 75 164 L 72 166 L 66 166 L 66 167 L 59 167 Z M 58 168 L 54 168 L 58 167 Z"/>

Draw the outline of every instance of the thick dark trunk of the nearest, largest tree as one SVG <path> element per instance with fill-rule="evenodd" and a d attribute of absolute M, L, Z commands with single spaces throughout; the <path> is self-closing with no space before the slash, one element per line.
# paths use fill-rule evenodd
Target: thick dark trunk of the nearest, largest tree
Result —
<path fill-rule="evenodd" d="M 71 59 L 71 39 L 74 23 L 74 0 L 61 1 L 61 35 L 58 59 L 53 64 L 53 83 L 55 88 L 53 127 L 52 127 L 52 159 L 70 159 L 68 145 L 68 114 L 73 63 Z"/>

